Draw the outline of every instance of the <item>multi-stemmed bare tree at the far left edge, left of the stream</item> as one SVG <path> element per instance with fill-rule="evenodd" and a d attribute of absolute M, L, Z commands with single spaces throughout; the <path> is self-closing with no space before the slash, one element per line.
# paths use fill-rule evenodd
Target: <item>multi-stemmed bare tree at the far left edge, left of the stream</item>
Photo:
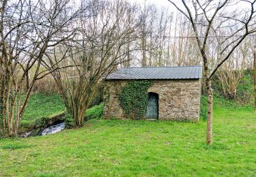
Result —
<path fill-rule="evenodd" d="M 48 48 L 74 36 L 68 25 L 78 15 L 70 1 L 1 1 L 0 97 L 4 136 L 18 134 L 31 89 Z M 30 73 L 30 77 L 29 77 Z"/>

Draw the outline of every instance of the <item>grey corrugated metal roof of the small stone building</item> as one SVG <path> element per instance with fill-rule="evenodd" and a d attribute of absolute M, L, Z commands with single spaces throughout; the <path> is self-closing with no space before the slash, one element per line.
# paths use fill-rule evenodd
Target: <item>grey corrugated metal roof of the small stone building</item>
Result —
<path fill-rule="evenodd" d="M 126 67 L 109 74 L 106 80 L 173 80 L 202 78 L 201 66 Z"/>

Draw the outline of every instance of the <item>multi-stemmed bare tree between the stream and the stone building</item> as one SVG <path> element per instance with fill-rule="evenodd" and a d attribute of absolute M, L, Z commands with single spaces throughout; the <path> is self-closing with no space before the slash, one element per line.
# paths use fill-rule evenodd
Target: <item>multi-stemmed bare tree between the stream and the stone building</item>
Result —
<path fill-rule="evenodd" d="M 68 114 L 76 127 L 83 125 L 85 112 L 94 100 L 102 79 L 120 63 L 125 62 L 134 41 L 136 18 L 133 7 L 124 1 L 98 1 L 91 4 L 88 17 L 79 20 L 79 35 L 48 54 L 48 69 L 63 97 Z M 128 18 L 128 16 L 130 16 Z M 126 21 L 128 20 L 128 21 Z M 56 69 L 65 65 L 65 69 Z"/>

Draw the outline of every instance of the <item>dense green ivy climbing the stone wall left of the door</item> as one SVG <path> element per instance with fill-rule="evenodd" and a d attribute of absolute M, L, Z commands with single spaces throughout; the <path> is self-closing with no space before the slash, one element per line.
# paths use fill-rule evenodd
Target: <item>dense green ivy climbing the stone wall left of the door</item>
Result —
<path fill-rule="evenodd" d="M 140 119 L 147 110 L 147 89 L 152 86 L 151 80 L 129 81 L 121 88 L 120 105 L 127 117 Z"/>

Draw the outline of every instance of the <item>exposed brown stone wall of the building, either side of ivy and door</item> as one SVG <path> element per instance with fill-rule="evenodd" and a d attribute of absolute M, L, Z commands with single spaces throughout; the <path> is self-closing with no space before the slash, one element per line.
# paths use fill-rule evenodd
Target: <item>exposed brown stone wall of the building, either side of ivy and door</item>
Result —
<path fill-rule="evenodd" d="M 106 80 L 104 84 L 104 118 L 124 119 L 119 93 L 126 80 Z M 157 93 L 158 119 L 199 120 L 201 82 L 194 80 L 154 80 L 148 93 Z"/>

